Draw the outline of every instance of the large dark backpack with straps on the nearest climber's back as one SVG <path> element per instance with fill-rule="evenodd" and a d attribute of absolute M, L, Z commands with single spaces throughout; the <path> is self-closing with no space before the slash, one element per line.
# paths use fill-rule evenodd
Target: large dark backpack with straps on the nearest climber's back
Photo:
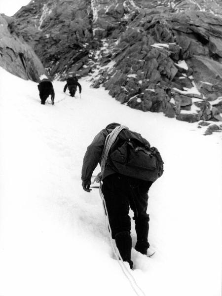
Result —
<path fill-rule="evenodd" d="M 136 132 L 123 129 L 111 146 L 107 165 L 133 178 L 154 182 L 163 174 L 163 160 L 155 147 Z"/>

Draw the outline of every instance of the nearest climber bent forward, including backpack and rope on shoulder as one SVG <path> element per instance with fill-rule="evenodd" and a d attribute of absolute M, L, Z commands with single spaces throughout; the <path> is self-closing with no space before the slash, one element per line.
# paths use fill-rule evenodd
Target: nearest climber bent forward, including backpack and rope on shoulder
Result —
<path fill-rule="evenodd" d="M 135 249 L 149 255 L 148 190 L 163 174 L 159 151 L 140 134 L 119 123 L 110 123 L 88 146 L 82 165 L 82 187 L 90 192 L 91 176 L 101 165 L 102 194 L 109 217 L 111 237 L 123 261 L 133 268 L 129 208 L 134 213 Z"/>

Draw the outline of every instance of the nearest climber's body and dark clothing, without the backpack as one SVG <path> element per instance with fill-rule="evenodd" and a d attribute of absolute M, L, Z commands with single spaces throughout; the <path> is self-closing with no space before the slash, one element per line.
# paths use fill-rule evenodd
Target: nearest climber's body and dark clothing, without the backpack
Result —
<path fill-rule="evenodd" d="M 88 146 L 82 165 L 82 187 L 86 192 L 90 192 L 91 176 L 97 164 L 101 165 L 101 157 L 105 146 L 106 137 L 119 123 L 111 123 L 94 138 Z M 127 138 L 127 129 L 121 130 Z M 135 133 L 135 132 L 134 132 Z M 137 133 L 135 133 L 137 134 Z M 137 134 L 141 137 L 141 135 Z M 148 141 L 141 137 L 148 143 Z M 149 143 L 148 143 L 149 144 Z M 129 172 L 129 175 L 130 172 Z M 133 267 L 131 260 L 132 238 L 130 235 L 131 220 L 129 208 L 134 212 L 135 229 L 137 233 L 137 243 L 135 249 L 147 254 L 148 243 L 148 189 L 152 185 L 150 181 L 144 181 L 120 174 L 111 166 L 109 157 L 103 173 L 102 192 L 106 201 L 111 235 L 115 239 L 116 246 L 124 261 L 129 262 L 130 268 Z"/>

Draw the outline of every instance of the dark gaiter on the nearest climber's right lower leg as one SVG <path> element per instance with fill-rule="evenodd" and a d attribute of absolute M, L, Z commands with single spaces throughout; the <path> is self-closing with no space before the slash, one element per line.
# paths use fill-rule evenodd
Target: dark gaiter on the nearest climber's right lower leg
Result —
<path fill-rule="evenodd" d="M 135 219 L 135 229 L 137 233 L 137 243 L 135 246 L 136 251 L 141 254 L 147 255 L 149 248 L 148 231 L 149 231 L 149 216 L 146 219 Z"/>

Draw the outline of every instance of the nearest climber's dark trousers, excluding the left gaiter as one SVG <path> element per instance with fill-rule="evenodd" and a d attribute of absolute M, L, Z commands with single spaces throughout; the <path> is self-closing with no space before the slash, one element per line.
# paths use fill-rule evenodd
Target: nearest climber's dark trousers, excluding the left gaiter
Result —
<path fill-rule="evenodd" d="M 127 231 L 130 233 L 129 209 L 131 208 L 134 212 L 137 245 L 143 242 L 143 248 L 148 249 L 149 215 L 147 214 L 147 207 L 148 189 L 151 185 L 152 182 L 150 181 L 121 174 L 112 174 L 103 180 L 102 192 L 106 201 L 113 239 L 120 232 Z"/>

